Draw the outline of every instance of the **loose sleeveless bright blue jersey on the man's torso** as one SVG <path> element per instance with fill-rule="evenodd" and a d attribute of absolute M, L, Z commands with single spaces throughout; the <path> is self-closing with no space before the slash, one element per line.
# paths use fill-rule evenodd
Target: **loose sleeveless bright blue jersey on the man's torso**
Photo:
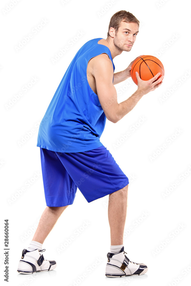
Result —
<path fill-rule="evenodd" d="M 100 136 L 106 116 L 86 74 L 88 61 L 102 53 L 113 64 L 110 49 L 98 44 L 100 39 L 86 42 L 74 56 L 40 123 L 38 147 L 56 152 L 83 152 L 103 145 Z"/>

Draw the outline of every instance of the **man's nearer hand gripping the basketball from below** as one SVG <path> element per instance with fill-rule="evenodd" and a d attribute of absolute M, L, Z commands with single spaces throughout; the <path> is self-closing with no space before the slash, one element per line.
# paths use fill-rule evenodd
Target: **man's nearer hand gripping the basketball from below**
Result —
<path fill-rule="evenodd" d="M 160 72 L 158 74 L 156 74 L 150 80 L 141 80 L 141 78 L 139 77 L 138 72 L 136 72 L 135 74 L 136 74 L 137 83 L 138 83 L 137 91 L 139 91 L 143 95 L 147 94 L 148 92 L 153 91 L 156 88 L 158 88 L 159 86 L 161 86 L 162 80 L 164 78 L 164 76 L 162 76 L 158 80 L 156 80 L 160 76 Z"/>

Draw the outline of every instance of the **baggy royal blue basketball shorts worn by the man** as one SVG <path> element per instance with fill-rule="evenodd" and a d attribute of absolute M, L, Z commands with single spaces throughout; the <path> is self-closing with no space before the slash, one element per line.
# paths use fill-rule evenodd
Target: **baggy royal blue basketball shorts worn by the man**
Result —
<path fill-rule="evenodd" d="M 92 202 L 129 184 L 105 146 L 76 153 L 40 148 L 40 156 L 47 206 L 73 204 L 77 188 Z"/>

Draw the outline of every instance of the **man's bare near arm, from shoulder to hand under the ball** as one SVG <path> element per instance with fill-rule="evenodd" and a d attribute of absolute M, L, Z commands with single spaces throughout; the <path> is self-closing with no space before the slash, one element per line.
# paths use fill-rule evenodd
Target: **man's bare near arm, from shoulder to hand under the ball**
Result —
<path fill-rule="evenodd" d="M 131 111 L 144 94 L 155 90 L 162 84 L 162 78 L 155 82 L 159 73 L 147 81 L 141 80 L 137 74 L 137 91 L 118 104 L 117 92 L 113 85 L 113 65 L 107 54 L 103 53 L 94 57 L 92 75 L 95 78 L 97 95 L 105 116 L 113 123 L 118 122 Z"/>

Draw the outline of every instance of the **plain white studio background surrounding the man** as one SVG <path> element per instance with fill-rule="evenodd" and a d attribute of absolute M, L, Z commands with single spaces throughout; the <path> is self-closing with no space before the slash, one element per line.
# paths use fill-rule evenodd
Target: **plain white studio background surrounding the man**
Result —
<path fill-rule="evenodd" d="M 16 4 L 2 0 L 0 4 L 1 281 L 5 270 L 3 226 L 4 219 L 9 219 L 11 286 L 42 283 L 66 286 L 190 284 L 191 67 L 187 2 L 13 2 Z M 101 136 L 103 145 L 131 178 L 124 231 L 127 257 L 147 264 L 148 272 L 137 277 L 105 277 L 110 251 L 109 196 L 88 203 L 77 190 L 73 205 L 63 212 L 43 244 L 45 259 L 56 260 L 56 269 L 34 275 L 18 274 L 22 250 L 30 243 L 46 208 L 40 148 L 36 147 L 39 123 L 78 49 L 90 39 L 106 39 L 110 18 L 119 10 L 133 13 L 141 25 L 131 52 L 123 52 L 114 59 L 115 72 L 125 69 L 142 54 L 158 57 L 165 68 L 162 86 L 143 96 L 137 106 L 116 124 L 107 120 Z M 35 27 L 43 20 L 46 24 L 35 33 Z M 78 31 L 83 35 L 75 38 L 73 45 L 69 44 Z M 19 42 L 30 33 L 32 38 L 17 51 Z M 69 50 L 52 63 L 66 45 Z M 33 77 L 38 80 L 30 87 Z M 27 92 L 22 89 L 25 85 L 30 87 Z M 137 89 L 131 79 L 115 87 L 119 102 Z M 19 92 L 23 93 L 21 97 L 18 97 Z M 15 100 L 15 96 L 19 99 Z M 162 98 L 166 99 L 162 101 Z M 139 122 L 140 117 L 145 118 L 143 123 Z M 19 146 L 18 142 L 32 129 L 32 136 Z M 123 140 L 128 131 L 131 136 Z M 166 144 L 164 149 L 163 144 Z M 33 179 L 35 172 L 39 174 L 36 180 Z M 27 180 L 32 182 L 29 187 L 26 186 Z M 24 191 L 21 190 L 23 187 Z M 165 193 L 168 194 L 164 196 Z M 84 222 L 88 226 L 83 227 Z M 73 241 L 70 241 L 71 236 Z M 66 247 L 58 253 L 62 245 Z M 7 282 L 3 283 L 7 285 Z"/>

